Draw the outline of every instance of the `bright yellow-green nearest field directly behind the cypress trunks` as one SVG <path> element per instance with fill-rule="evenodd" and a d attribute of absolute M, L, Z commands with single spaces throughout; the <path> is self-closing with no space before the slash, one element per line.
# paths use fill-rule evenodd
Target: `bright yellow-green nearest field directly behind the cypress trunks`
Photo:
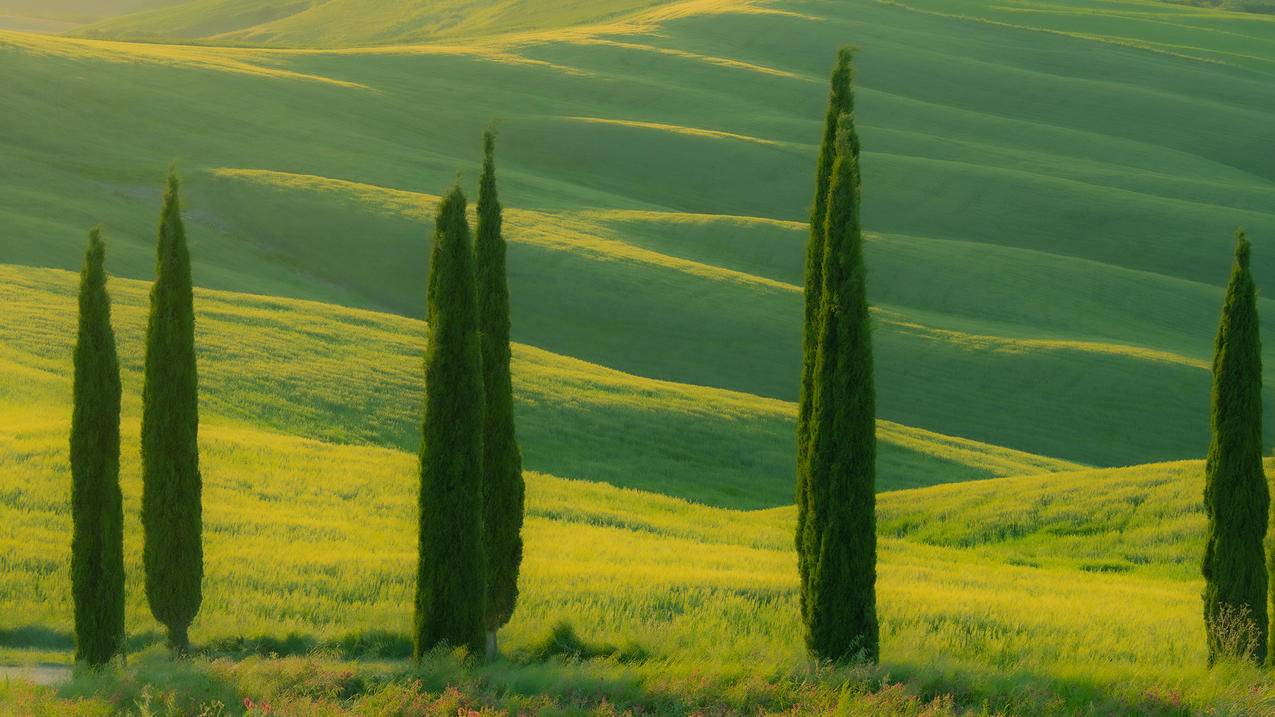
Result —
<path fill-rule="evenodd" d="M 65 420 L 0 421 L 0 603 L 9 610 L 0 625 L 3 654 L 64 661 Z M 159 638 L 138 583 L 135 439 L 135 425 L 126 422 L 129 634 L 142 648 Z M 203 452 L 207 578 L 193 630 L 198 644 L 213 654 L 315 647 L 347 658 L 407 653 L 411 453 L 218 420 L 205 422 Z M 592 694 L 621 708 L 663 704 L 667 713 L 685 713 L 706 704 L 829 709 L 843 681 L 875 691 L 889 675 L 924 699 L 947 694 L 963 707 L 986 703 L 1011 713 L 1261 714 L 1275 704 L 1269 681 L 1204 669 L 1195 572 L 1200 473 L 1195 462 L 882 495 L 878 674 L 802 666 L 790 508 L 714 509 L 534 473 L 523 597 L 504 633 L 506 651 L 534 653 L 551 625 L 569 620 L 590 644 L 617 646 L 626 657 L 497 666 L 477 676 L 442 661 L 398 679 L 423 676 L 437 690 L 474 680 L 470 697 L 506 704 L 527 694 Z M 171 674 L 147 677 L 147 665 L 142 684 L 175 684 Z M 264 669 L 314 670 L 287 665 Z M 342 689 L 297 684 L 301 693 L 279 699 L 352 699 L 386 679 L 375 676 L 386 669 L 375 662 L 353 667 L 372 672 L 357 679 L 349 667 L 329 669 L 348 672 Z M 210 694 L 194 689 L 203 683 L 189 676 L 177 681 L 193 688 L 182 699 L 228 693 L 226 702 L 237 703 L 291 680 L 236 684 L 242 679 L 223 675 Z M 584 695 L 571 691 L 579 685 L 589 685 Z M 92 693 L 127 700 L 139 686 Z M 88 688 L 62 694 L 80 689 Z"/>

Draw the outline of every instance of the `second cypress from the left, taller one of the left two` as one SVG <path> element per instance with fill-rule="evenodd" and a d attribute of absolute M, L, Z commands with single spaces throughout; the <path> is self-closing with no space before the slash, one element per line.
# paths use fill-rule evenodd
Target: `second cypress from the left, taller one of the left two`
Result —
<path fill-rule="evenodd" d="M 142 527 L 147 600 L 178 653 L 203 601 L 199 387 L 190 251 L 176 171 L 168 175 L 150 287 L 142 389 Z"/>

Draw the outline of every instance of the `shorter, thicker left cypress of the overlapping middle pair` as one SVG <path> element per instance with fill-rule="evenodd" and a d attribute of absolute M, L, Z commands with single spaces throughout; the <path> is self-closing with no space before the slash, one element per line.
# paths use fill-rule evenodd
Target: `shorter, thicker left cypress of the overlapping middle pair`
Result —
<path fill-rule="evenodd" d="M 459 188 L 439 204 L 430 256 L 430 344 L 421 430 L 414 654 L 483 648 L 482 348 L 474 254 Z"/>

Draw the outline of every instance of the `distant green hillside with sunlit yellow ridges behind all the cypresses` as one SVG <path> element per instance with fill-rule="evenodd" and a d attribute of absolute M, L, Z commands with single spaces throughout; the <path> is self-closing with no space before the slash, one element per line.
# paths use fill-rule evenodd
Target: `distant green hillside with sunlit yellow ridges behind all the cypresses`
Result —
<path fill-rule="evenodd" d="M 496 117 L 518 341 L 793 401 L 812 144 L 853 42 L 881 416 L 1088 464 L 1204 450 L 1235 225 L 1275 286 L 1275 26 L 1079 0 L 621 5 L 362 50 L 3 34 L 0 260 L 74 268 L 102 221 L 115 269 L 147 277 L 178 158 L 201 286 L 418 316 L 428 198 L 472 177 Z"/>

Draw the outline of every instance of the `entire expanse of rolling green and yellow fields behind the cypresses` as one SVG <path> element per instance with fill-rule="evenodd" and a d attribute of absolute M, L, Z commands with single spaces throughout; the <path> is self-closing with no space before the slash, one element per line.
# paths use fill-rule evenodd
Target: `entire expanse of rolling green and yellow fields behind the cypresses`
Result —
<path fill-rule="evenodd" d="M 843 43 L 859 48 L 886 491 L 875 670 L 805 661 L 790 528 L 805 217 Z M 1237 226 L 1275 291 L 1272 17 L 0 0 L 0 663 L 70 660 L 71 272 L 94 223 L 143 652 L 119 684 L 0 677 L 0 712 L 136 711 L 150 683 L 353 713 L 422 691 L 440 714 L 1275 711 L 1269 675 L 1205 670 L 1198 579 Z M 430 222 L 458 171 L 474 185 L 493 121 L 524 597 L 502 633 L 514 662 L 412 669 Z M 161 657 L 138 568 L 143 282 L 172 162 L 208 521 L 187 666 Z M 528 657 L 560 620 L 615 654 Z M 241 660 L 270 652 L 286 658 Z"/>

